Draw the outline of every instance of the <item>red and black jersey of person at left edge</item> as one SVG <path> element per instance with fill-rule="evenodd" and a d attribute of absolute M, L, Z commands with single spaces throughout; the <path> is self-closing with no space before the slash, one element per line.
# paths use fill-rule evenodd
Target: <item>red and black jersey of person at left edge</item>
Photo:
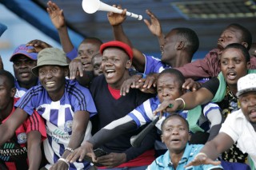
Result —
<path fill-rule="evenodd" d="M 18 99 L 19 98 L 14 98 L 14 104 Z M 14 110 L 15 108 L 13 108 L 10 115 L 14 113 Z M 2 123 L 6 122 L 10 115 L 6 117 Z M 0 161 L 6 164 L 6 167 L 9 170 L 28 169 L 26 134 L 34 130 L 37 130 L 42 134 L 42 140 L 46 139 L 46 127 L 44 121 L 35 110 L 34 113 L 27 117 L 26 121 L 16 129 L 15 135 L 0 147 Z"/>

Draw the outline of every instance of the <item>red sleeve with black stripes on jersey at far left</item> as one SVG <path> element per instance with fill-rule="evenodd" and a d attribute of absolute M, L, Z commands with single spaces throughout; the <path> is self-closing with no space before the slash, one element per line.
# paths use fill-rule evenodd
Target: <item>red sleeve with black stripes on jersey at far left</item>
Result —
<path fill-rule="evenodd" d="M 42 135 L 42 140 L 47 138 L 46 136 L 46 126 L 42 117 L 34 110 L 34 113 L 26 118 L 26 133 L 31 131 L 38 131 Z"/>

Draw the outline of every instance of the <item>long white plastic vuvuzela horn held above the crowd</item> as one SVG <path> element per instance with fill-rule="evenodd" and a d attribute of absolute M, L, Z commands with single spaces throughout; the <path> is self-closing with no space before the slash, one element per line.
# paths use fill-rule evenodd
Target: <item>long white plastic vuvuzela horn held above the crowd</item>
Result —
<path fill-rule="evenodd" d="M 82 9 L 86 11 L 88 14 L 93 14 L 97 10 L 102 10 L 102 11 L 109 11 L 109 12 L 114 12 L 121 14 L 122 10 L 115 8 L 113 6 L 109 6 L 106 3 L 103 3 L 99 0 L 82 0 Z M 126 12 L 126 16 L 130 16 L 132 18 L 137 18 L 138 20 L 142 20 L 142 15 Z"/>

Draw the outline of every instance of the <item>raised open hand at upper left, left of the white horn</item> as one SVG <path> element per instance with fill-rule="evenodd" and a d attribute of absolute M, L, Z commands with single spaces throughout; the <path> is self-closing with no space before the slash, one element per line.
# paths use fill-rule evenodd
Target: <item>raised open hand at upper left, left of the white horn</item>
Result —
<path fill-rule="evenodd" d="M 54 2 L 47 2 L 47 12 L 50 15 L 51 22 L 53 22 L 56 29 L 61 29 L 66 26 L 65 17 L 63 14 L 63 10 L 59 9 L 59 7 Z"/>

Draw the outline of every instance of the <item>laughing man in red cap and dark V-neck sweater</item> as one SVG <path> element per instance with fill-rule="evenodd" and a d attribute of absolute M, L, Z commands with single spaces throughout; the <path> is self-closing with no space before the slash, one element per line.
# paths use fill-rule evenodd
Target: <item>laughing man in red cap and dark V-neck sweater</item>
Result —
<path fill-rule="evenodd" d="M 125 116 L 143 101 L 152 97 L 152 95 L 142 93 L 138 89 L 132 89 L 126 96 L 120 95 L 123 81 L 130 77 L 129 68 L 133 52 L 129 45 L 118 41 L 106 42 L 101 45 L 100 52 L 103 55 L 102 72 L 104 75 L 95 77 L 90 85 L 90 92 L 98 111 L 98 129 Z M 146 169 L 146 166 L 154 160 L 154 150 L 150 148 L 154 146 L 156 133 L 150 132 L 141 147 L 133 148 L 130 145 L 130 137 L 136 135 L 138 130 L 127 132 L 102 146 L 94 146 L 103 148 L 109 153 L 106 156 L 98 157 L 97 163 L 106 166 L 106 168 L 115 167 L 114 169 Z M 90 140 L 88 142 L 94 143 Z M 83 144 L 76 150 L 78 155 L 85 149 Z"/>

